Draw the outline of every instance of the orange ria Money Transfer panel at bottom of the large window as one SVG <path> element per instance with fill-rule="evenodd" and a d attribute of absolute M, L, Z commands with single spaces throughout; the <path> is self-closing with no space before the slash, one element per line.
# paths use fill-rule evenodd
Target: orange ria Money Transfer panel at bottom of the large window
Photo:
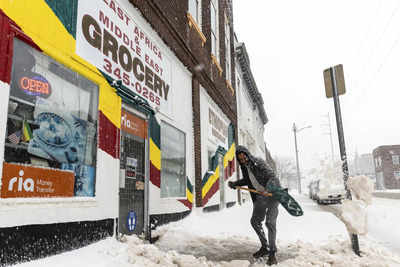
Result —
<path fill-rule="evenodd" d="M 72 171 L 3 163 L 1 198 L 73 196 Z"/>

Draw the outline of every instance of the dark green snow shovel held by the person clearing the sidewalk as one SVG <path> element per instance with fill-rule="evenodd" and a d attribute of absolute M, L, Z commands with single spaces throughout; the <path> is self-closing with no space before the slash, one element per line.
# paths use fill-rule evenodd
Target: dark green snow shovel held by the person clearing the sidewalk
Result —
<path fill-rule="evenodd" d="M 236 189 L 250 191 L 256 194 L 263 195 L 265 197 L 272 197 L 277 200 L 281 205 L 286 209 L 286 211 L 292 216 L 301 216 L 303 215 L 303 210 L 301 209 L 299 203 L 288 193 L 287 188 L 282 189 L 279 187 L 271 187 L 269 188 L 270 192 L 260 192 L 255 189 L 236 186 Z"/>

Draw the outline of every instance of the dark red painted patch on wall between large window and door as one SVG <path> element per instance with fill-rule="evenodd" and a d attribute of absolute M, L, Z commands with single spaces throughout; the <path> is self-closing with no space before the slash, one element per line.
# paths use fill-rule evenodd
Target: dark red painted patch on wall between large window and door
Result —
<path fill-rule="evenodd" d="M 99 148 L 113 158 L 119 158 L 119 129 L 99 111 Z"/>

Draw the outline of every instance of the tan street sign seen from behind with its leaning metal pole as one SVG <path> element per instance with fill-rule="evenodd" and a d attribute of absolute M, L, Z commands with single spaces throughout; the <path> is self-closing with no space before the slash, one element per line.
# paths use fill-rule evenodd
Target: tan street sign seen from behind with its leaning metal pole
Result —
<path fill-rule="evenodd" d="M 347 165 L 342 114 L 340 111 L 340 102 L 339 102 L 339 95 L 344 94 L 346 92 L 346 87 L 344 84 L 343 65 L 341 64 L 336 65 L 334 67 L 324 70 L 324 82 L 325 82 L 326 97 L 327 98 L 333 97 L 333 103 L 335 105 L 336 126 L 339 138 L 340 157 L 342 159 L 343 180 L 346 189 L 346 198 L 351 200 L 351 192 L 347 187 L 347 180 L 349 179 L 349 169 Z M 361 256 L 360 246 L 358 243 L 358 236 L 356 234 L 351 234 L 351 244 L 354 253 L 357 254 L 358 256 Z"/>

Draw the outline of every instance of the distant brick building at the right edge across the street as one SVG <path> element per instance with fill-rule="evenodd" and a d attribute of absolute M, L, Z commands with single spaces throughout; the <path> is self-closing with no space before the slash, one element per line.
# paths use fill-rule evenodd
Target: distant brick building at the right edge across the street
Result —
<path fill-rule="evenodd" d="M 373 161 L 376 189 L 400 189 L 400 145 L 375 148 Z"/>

